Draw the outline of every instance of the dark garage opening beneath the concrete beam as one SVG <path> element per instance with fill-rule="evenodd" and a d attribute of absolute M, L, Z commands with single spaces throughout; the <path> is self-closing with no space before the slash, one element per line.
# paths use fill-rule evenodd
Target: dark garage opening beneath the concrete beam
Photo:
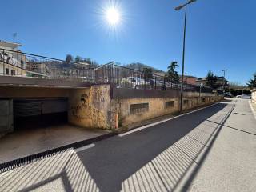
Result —
<path fill-rule="evenodd" d="M 16 99 L 14 130 L 56 126 L 68 122 L 68 99 Z"/>

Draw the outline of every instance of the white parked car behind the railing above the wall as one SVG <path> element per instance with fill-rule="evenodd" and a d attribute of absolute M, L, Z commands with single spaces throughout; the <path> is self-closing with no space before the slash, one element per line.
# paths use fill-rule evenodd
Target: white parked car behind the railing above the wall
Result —
<path fill-rule="evenodd" d="M 150 82 L 147 82 L 144 79 L 137 77 L 122 78 L 121 87 L 128 87 L 133 89 L 151 88 Z"/>

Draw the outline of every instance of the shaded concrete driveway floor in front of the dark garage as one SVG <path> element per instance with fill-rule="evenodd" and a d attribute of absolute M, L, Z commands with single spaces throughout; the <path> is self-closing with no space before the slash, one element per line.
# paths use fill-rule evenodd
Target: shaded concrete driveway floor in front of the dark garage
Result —
<path fill-rule="evenodd" d="M 0 139 L 0 164 L 108 133 L 70 125 L 16 131 Z"/>

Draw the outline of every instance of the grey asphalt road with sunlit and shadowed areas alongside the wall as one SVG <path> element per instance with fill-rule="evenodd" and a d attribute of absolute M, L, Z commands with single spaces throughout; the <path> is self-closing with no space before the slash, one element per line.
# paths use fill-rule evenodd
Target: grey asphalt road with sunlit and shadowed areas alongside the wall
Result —
<path fill-rule="evenodd" d="M 0 191 L 255 191 L 256 119 L 233 99 L 0 174 Z"/>

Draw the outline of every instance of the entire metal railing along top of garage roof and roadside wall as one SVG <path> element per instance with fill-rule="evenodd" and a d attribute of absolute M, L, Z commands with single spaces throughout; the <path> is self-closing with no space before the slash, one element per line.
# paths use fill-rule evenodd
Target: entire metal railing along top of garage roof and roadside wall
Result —
<path fill-rule="evenodd" d="M 130 89 L 181 89 L 180 83 L 165 76 L 149 75 L 141 70 L 118 66 L 115 62 L 92 67 L 83 62 L 66 62 L 61 59 L 0 49 L 0 75 L 67 79 L 91 83 L 111 83 L 118 88 Z M 184 84 L 184 90 L 212 93 L 204 86 Z"/>

